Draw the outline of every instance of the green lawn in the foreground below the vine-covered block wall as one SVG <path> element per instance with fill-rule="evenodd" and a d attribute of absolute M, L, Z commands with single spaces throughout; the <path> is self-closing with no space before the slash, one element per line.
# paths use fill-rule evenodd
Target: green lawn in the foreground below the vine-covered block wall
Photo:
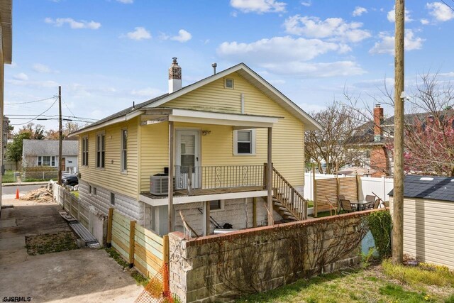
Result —
<path fill-rule="evenodd" d="M 421 270 L 421 269 L 419 269 Z M 381 265 L 369 269 L 333 272 L 261 294 L 251 294 L 237 302 L 445 302 L 454 303 L 454 287 L 400 285 L 384 275 Z"/>

